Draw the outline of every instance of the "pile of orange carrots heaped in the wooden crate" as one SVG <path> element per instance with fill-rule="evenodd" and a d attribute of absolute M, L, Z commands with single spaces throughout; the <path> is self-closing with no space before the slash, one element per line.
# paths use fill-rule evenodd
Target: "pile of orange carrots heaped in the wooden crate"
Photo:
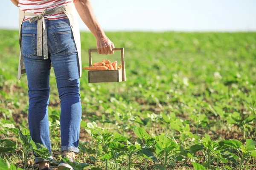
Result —
<path fill-rule="evenodd" d="M 103 59 L 102 62 L 95 62 L 93 63 L 93 66 L 90 67 L 84 67 L 83 69 L 95 71 L 95 70 L 118 70 L 122 69 L 122 65 L 120 64 L 117 67 L 117 61 L 110 62 L 108 59 Z"/>

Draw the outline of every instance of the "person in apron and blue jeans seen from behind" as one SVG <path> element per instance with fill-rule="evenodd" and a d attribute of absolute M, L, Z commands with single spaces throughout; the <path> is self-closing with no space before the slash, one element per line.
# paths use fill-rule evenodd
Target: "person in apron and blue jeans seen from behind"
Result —
<path fill-rule="evenodd" d="M 79 152 L 81 121 L 81 49 L 75 11 L 96 38 L 99 54 L 113 54 L 114 45 L 99 26 L 90 0 L 11 1 L 20 10 L 18 79 L 21 74 L 27 74 L 30 136 L 51 152 L 47 106 L 49 73 L 53 66 L 61 100 L 61 151 L 73 161 Z M 46 159 L 36 158 L 35 163 L 39 170 L 50 170 Z M 72 169 L 61 161 L 58 169 L 63 167 Z"/>

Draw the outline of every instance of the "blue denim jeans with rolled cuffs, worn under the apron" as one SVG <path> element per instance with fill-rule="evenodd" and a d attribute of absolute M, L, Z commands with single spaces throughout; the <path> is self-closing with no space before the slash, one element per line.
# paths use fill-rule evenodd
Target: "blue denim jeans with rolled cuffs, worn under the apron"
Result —
<path fill-rule="evenodd" d="M 37 54 L 37 21 L 22 23 L 22 54 L 26 67 L 29 94 L 29 131 L 34 142 L 44 144 L 51 153 L 48 104 L 51 63 L 61 100 L 61 150 L 79 153 L 81 99 L 79 60 L 67 18 L 46 20 L 49 59 Z M 42 49 L 39 49 L 42 50 Z M 36 158 L 35 163 L 47 161 Z"/>

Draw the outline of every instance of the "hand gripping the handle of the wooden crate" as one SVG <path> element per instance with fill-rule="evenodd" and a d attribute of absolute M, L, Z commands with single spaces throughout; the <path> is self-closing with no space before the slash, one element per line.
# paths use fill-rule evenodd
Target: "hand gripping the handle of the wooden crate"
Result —
<path fill-rule="evenodd" d="M 114 51 L 112 49 L 115 48 L 115 46 L 113 42 L 111 42 L 111 40 L 108 39 L 108 37 L 100 37 L 97 40 L 96 45 L 99 54 L 114 54 Z"/>

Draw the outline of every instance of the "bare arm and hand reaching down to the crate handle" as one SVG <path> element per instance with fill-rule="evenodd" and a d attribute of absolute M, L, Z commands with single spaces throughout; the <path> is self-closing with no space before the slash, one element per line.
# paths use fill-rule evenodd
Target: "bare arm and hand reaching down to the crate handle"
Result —
<path fill-rule="evenodd" d="M 97 40 L 97 48 L 99 54 L 113 54 L 112 48 L 114 47 L 113 42 L 108 39 L 93 12 L 90 0 L 73 0 L 76 6 L 76 10 L 85 23 L 85 25 L 93 33 Z"/>

